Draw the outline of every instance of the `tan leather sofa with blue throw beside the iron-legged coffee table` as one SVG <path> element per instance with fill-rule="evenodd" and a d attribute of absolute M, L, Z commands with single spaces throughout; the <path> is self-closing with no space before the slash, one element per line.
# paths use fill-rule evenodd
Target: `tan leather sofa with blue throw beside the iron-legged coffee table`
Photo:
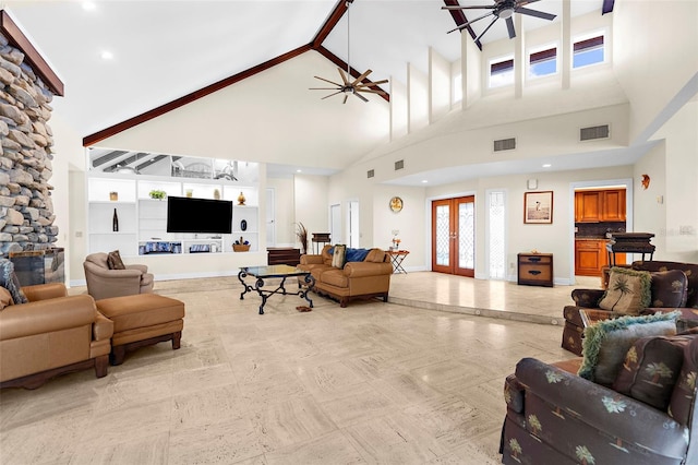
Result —
<path fill-rule="evenodd" d="M 388 301 L 393 265 L 381 249 L 369 250 L 362 262 L 347 262 L 342 269 L 332 265 L 330 245 L 325 245 L 320 254 L 301 255 L 300 270 L 310 271 L 315 278 L 314 290 L 339 301 L 345 308 L 351 299 L 374 297 Z"/>

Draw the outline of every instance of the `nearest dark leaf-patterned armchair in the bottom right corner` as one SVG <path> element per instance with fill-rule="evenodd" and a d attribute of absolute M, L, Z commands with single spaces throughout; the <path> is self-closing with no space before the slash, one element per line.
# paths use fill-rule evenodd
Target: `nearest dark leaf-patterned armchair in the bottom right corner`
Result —
<path fill-rule="evenodd" d="M 698 334 L 647 337 L 635 344 L 646 350 L 640 348 L 635 361 L 626 356 L 611 386 L 580 378 L 569 367 L 520 360 L 505 381 L 502 462 L 698 464 Z M 667 371 L 673 378 L 654 382 L 648 372 L 663 362 L 674 367 Z M 650 404 L 658 402 L 648 397 L 650 392 L 661 392 L 659 404 Z"/>

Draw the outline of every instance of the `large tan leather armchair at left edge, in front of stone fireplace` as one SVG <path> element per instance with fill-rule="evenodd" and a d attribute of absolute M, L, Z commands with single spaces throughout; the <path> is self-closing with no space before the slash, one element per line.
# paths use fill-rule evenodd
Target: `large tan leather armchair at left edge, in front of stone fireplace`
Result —
<path fill-rule="evenodd" d="M 49 379 L 94 368 L 107 374 L 113 323 L 86 295 L 59 283 L 25 286 L 27 303 L 0 311 L 0 388 L 36 389 Z"/>

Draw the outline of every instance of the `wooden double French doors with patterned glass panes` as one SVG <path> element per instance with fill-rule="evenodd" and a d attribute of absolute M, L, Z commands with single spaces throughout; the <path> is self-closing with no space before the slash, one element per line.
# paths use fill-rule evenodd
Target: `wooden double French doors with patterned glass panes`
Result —
<path fill-rule="evenodd" d="M 432 271 L 474 276 L 476 198 L 432 201 Z"/>

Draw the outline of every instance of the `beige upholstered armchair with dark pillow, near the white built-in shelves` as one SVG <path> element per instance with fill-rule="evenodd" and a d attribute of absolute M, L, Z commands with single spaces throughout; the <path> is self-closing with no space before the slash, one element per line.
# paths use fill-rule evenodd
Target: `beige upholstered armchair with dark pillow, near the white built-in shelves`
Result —
<path fill-rule="evenodd" d="M 153 274 L 146 265 L 125 265 L 125 270 L 109 270 L 107 254 L 92 253 L 83 262 L 87 294 L 95 300 L 133 296 L 153 291 Z"/>

